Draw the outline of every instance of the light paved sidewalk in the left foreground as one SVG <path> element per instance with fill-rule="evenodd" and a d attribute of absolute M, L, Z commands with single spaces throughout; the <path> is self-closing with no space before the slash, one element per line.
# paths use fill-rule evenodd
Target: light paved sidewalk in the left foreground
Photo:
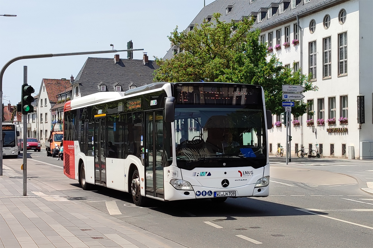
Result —
<path fill-rule="evenodd" d="M 28 178 L 27 196 L 22 196 L 22 173 L 16 169 L 22 160 L 3 161 L 3 176 L 0 177 L 1 248 L 182 247 L 80 201 L 69 200 L 59 191 L 61 189 L 56 189 L 57 185 L 61 187 L 61 183 L 51 183 L 48 179 L 45 183 L 44 178 Z M 42 171 L 50 167 L 47 169 L 62 173 L 62 168 L 50 165 L 40 167 L 36 162 L 28 161 L 30 172 L 36 172 L 35 168 Z M 44 177 L 48 171 L 41 173 Z M 54 177 L 50 180 L 59 179 Z M 76 181 L 71 180 L 70 183 Z"/>

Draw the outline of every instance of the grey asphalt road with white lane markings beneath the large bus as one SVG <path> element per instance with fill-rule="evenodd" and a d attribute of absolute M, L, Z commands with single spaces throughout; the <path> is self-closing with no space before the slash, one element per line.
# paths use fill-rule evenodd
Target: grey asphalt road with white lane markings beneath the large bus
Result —
<path fill-rule="evenodd" d="M 29 155 L 35 160 L 62 165 L 56 158 L 46 157 L 45 152 Z M 276 158 L 271 161 L 275 166 L 285 166 Z M 314 162 L 320 164 L 320 161 Z M 320 167 L 304 164 L 300 161 L 300 165 L 290 166 Z M 365 169 L 339 166 L 340 161 L 329 164 L 330 170 L 339 173 Z M 369 170 L 371 164 L 363 166 Z M 55 172 L 56 176 L 58 173 L 61 172 Z M 68 182 L 69 190 L 62 193 L 69 200 L 89 204 L 103 215 L 112 215 L 186 247 L 371 247 L 373 244 L 373 196 L 361 191 L 358 183 L 321 186 L 271 178 L 269 197 L 228 199 L 221 204 L 208 199 L 149 200 L 147 207 L 137 207 L 128 193 L 103 187 L 84 191 L 78 181 L 71 183 L 68 178 L 55 181 L 62 189 Z"/>

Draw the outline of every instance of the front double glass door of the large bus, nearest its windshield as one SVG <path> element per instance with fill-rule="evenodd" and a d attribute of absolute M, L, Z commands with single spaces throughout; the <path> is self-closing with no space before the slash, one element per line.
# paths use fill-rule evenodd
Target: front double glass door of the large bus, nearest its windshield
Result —
<path fill-rule="evenodd" d="M 145 192 L 164 198 L 163 110 L 145 113 Z"/>

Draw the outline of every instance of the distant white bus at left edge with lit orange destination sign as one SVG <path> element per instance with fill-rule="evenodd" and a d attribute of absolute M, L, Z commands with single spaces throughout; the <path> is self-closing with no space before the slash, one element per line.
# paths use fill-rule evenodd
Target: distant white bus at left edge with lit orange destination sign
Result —
<path fill-rule="evenodd" d="M 3 156 L 18 157 L 21 152 L 21 134 L 18 125 L 3 123 Z"/>

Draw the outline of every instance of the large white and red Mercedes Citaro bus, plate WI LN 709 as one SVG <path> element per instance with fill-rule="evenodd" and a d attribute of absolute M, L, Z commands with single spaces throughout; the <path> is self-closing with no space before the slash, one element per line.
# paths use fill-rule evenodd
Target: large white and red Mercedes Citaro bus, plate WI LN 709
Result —
<path fill-rule="evenodd" d="M 64 174 L 162 201 L 269 195 L 261 86 L 152 83 L 66 102 Z"/>

